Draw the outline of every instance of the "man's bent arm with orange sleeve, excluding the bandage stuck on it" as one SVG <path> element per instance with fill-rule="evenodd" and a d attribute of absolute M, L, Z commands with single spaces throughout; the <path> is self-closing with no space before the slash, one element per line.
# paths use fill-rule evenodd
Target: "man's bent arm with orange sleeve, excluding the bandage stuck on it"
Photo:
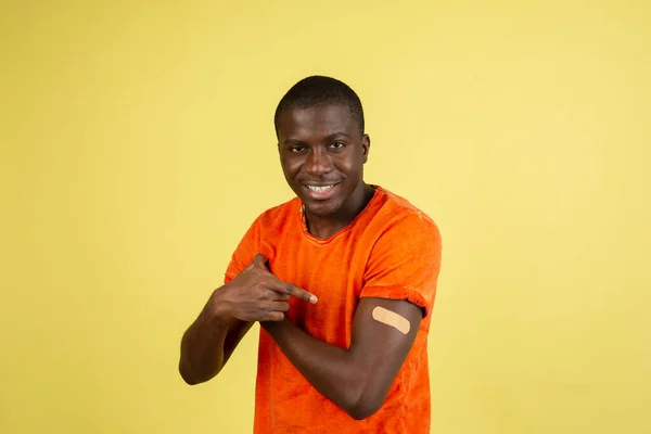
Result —
<path fill-rule="evenodd" d="M 422 213 L 393 220 L 374 243 L 353 319 L 348 349 L 321 342 L 292 324 L 261 322 L 280 349 L 322 395 L 355 419 L 382 407 L 429 315 L 441 269 L 441 234 Z M 409 332 L 373 319 L 381 306 L 409 322 Z"/>

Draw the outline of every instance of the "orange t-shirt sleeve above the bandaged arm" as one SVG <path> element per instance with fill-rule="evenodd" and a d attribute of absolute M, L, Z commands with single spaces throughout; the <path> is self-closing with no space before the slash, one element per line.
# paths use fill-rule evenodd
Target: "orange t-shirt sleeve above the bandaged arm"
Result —
<path fill-rule="evenodd" d="M 441 233 L 424 214 L 398 219 L 371 251 L 360 297 L 407 299 L 430 315 L 441 270 Z"/>

